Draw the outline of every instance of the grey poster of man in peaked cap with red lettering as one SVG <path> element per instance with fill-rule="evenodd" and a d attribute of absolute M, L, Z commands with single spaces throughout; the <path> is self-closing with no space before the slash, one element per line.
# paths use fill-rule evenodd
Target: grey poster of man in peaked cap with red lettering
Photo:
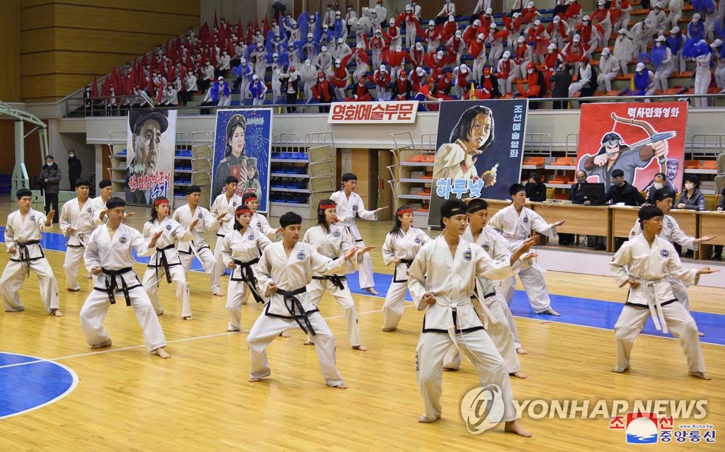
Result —
<path fill-rule="evenodd" d="M 175 110 L 133 110 L 128 115 L 125 198 L 150 205 L 173 191 Z"/>

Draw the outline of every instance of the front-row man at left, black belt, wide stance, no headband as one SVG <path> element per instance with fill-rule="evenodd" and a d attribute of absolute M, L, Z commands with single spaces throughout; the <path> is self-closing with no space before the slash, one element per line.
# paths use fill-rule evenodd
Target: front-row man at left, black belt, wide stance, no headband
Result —
<path fill-rule="evenodd" d="M 131 249 L 137 256 L 154 254 L 156 240 L 161 237 L 162 232 L 154 234 L 151 241 L 146 243 L 141 233 L 123 224 L 126 202 L 122 198 L 109 198 L 106 208 L 108 221 L 91 234 L 86 245 L 86 254 L 83 256 L 88 272 L 96 275 L 94 290 L 91 290 L 86 303 L 80 308 L 83 336 L 91 348 L 112 345 L 111 338 L 103 327 L 103 319 L 109 307 L 116 303 L 116 296 L 123 294 L 126 306 L 133 306 L 138 325 L 144 330 L 146 348 L 161 358 L 169 358 L 169 353 L 164 350 L 164 332 L 146 290 L 133 271 L 132 266 L 136 264 L 136 260 L 131 255 Z"/>

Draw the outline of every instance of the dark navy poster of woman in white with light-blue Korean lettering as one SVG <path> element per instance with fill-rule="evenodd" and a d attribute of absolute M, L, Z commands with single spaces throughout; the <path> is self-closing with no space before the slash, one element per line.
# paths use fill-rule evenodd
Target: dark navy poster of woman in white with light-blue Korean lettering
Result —
<path fill-rule="evenodd" d="M 449 198 L 510 199 L 521 181 L 526 99 L 441 102 L 428 225 Z"/>

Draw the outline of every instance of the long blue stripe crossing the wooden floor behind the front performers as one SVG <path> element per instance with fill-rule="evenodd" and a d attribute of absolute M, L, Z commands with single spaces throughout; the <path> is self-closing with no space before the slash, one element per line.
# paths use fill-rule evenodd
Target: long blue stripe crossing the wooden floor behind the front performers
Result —
<path fill-rule="evenodd" d="M 0 233 L 4 233 L 4 230 L 4 227 L 0 227 Z M 0 240 L 4 241 L 4 234 L 1 236 Z M 65 251 L 65 237 L 63 237 L 62 234 L 43 233 L 41 244 L 43 245 L 43 248 L 54 251 Z M 139 262 L 144 264 L 149 261 L 148 257 L 137 259 Z M 194 259 L 191 264 L 191 269 L 203 271 L 202 264 L 197 259 Z M 381 273 L 375 273 L 373 275 L 373 281 L 375 282 L 378 292 L 381 293 L 381 297 L 384 298 L 384 294 L 386 293 L 384 288 L 388 288 L 390 286 L 392 279 L 392 275 L 385 275 Z M 347 282 L 352 293 L 370 295 L 367 291 L 360 290 L 357 273 L 347 275 Z M 528 319 L 566 323 L 568 325 L 613 330 L 614 324 L 617 322 L 617 318 L 619 317 L 623 307 L 621 303 L 592 300 L 590 298 L 578 298 L 563 295 L 550 295 L 550 298 L 552 307 L 559 311 L 560 314 L 563 314 L 561 317 L 535 314 L 534 311 L 531 311 L 531 306 L 529 306 L 526 293 L 522 290 L 516 290 L 513 303 L 511 304 L 511 311 L 516 317 L 526 317 Z M 410 293 L 406 294 L 405 299 L 407 301 L 413 301 L 412 298 L 410 298 Z M 721 325 L 725 323 L 725 315 L 692 311 L 692 317 L 695 318 L 697 327 L 700 331 L 705 333 L 705 336 L 700 338 L 700 342 L 725 346 L 725 329 L 721 328 Z M 655 330 L 652 319 L 647 320 L 642 332 L 647 335 L 668 338 L 673 337 L 671 334 L 663 335 L 661 332 Z"/>

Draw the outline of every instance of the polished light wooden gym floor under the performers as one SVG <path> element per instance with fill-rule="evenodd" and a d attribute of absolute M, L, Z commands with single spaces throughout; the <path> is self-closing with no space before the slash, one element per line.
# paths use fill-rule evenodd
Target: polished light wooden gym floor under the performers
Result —
<path fill-rule="evenodd" d="M 0 204 L 0 225 L 14 209 L 15 203 Z M 148 211 L 130 210 L 138 212 L 130 225 L 141 228 Z M 376 272 L 392 273 L 380 255 L 390 223 L 359 224 L 369 244 L 378 247 L 371 254 Z M 59 228 L 54 225 L 49 232 L 59 233 Z M 379 287 L 379 297 L 355 296 L 366 352 L 350 348 L 334 300 L 325 296 L 320 304 L 337 338 L 337 365 L 347 390 L 324 384 L 315 350 L 302 345 L 301 330 L 290 330 L 291 338 L 278 338 L 268 349 L 270 378 L 247 382 L 247 330 L 260 314 L 260 306 L 244 306 L 242 323 L 247 330 L 225 332 L 225 298 L 211 296 L 209 279 L 202 272 L 190 272 L 188 277 L 194 311 L 191 322 L 181 319 L 173 286 L 162 284 L 159 290 L 165 307 L 159 319 L 171 359 L 146 352 L 141 329 L 123 298 L 109 309 L 104 322 L 114 345 L 91 351 L 78 320 L 91 290 L 90 280 L 83 279 L 86 272 L 81 269 L 80 292 L 66 292 L 63 254 L 46 251 L 46 255 L 58 280 L 65 317 L 45 314 L 36 277 L 31 275 L 21 292 L 26 310 L 0 313 L 0 352 L 63 364 L 78 375 L 78 385 L 54 403 L 0 419 L 1 451 L 611 451 L 628 447 L 624 430 L 609 430 L 609 419 L 603 417 L 531 419 L 525 412 L 521 422 L 533 438 L 505 434 L 502 426 L 472 435 L 459 411 L 465 393 L 479 385 L 468 361 L 459 372 L 444 374 L 442 419 L 418 424 L 422 402 L 415 382 L 415 345 L 423 313 L 407 304 L 397 332 L 381 332 L 384 289 Z M 7 260 L 7 254 L 0 254 L 1 267 Z M 136 271 L 143 275 L 144 266 L 136 265 Z M 618 302 L 625 296 L 610 277 L 549 272 L 546 279 L 552 294 Z M 223 278 L 224 288 L 225 282 Z M 721 289 L 693 287 L 689 294 L 693 311 L 725 314 Z M 566 311 L 561 313 L 567 316 Z M 529 378 L 512 379 L 516 400 L 576 400 L 580 406 L 581 401 L 594 406 L 600 399 L 624 400 L 631 406 L 635 400 L 705 399 L 707 417 L 697 422 L 725 429 L 724 347 L 703 344 L 708 374 L 713 377 L 703 381 L 687 377 L 676 340 L 641 335 L 631 372 L 614 374 L 610 372 L 615 361 L 612 330 L 548 322 L 545 317 L 518 317 L 517 324 L 530 353 L 520 356 Z M 33 365 L 26 367 L 31 372 Z M 23 378 L 0 380 L 0 384 L 33 390 L 25 388 Z M 673 440 L 653 448 L 714 451 L 723 450 L 722 441 Z"/>

